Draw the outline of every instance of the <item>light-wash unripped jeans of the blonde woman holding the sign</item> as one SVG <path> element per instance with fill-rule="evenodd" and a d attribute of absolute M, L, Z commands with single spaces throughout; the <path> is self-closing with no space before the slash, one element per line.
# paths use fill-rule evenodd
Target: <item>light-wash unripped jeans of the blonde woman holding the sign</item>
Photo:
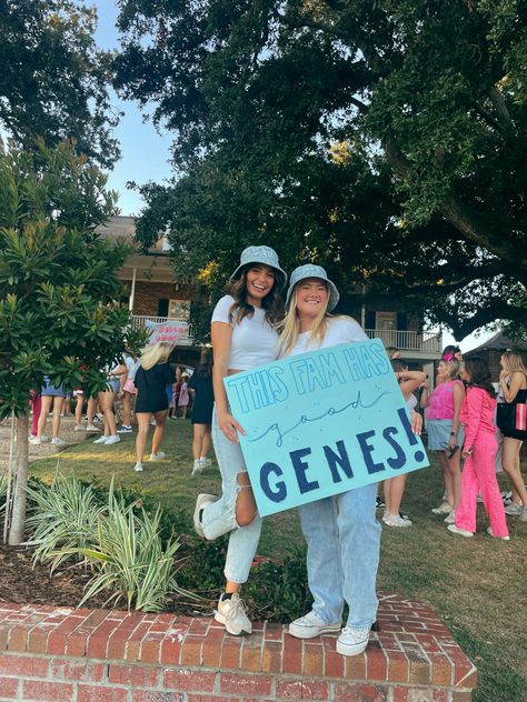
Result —
<path fill-rule="evenodd" d="M 376 484 L 299 508 L 307 541 L 314 611 L 327 623 L 371 626 L 377 615 L 376 579 L 381 528 L 375 515 Z"/>

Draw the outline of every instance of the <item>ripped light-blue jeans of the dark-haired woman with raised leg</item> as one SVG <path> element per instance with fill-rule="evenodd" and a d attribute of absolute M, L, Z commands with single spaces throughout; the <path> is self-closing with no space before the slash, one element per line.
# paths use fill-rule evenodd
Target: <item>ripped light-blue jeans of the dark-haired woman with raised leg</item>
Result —
<path fill-rule="evenodd" d="M 230 532 L 223 573 L 227 580 L 241 584 L 249 578 L 249 570 L 258 548 L 261 517 L 257 514 L 247 526 L 238 526 L 236 500 L 241 489 L 238 483 L 238 473 L 247 472 L 247 467 L 240 444 L 229 441 L 219 429 L 216 408 L 212 413 L 212 442 L 221 472 L 221 498 L 205 507 L 201 525 L 209 541 Z"/>

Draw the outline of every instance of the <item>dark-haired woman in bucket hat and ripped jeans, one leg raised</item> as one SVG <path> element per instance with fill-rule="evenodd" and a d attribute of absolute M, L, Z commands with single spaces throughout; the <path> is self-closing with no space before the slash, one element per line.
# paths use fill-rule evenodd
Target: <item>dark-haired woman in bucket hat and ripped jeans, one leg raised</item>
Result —
<path fill-rule="evenodd" d="M 287 281 L 277 253 L 269 247 L 249 247 L 231 275 L 229 294 L 215 308 L 211 320 L 213 349 L 212 382 L 215 411 L 212 441 L 221 472 L 222 494 L 198 495 L 195 510 L 197 533 L 208 540 L 230 532 L 225 576 L 226 591 L 215 612 L 216 621 L 233 635 L 249 634 L 249 621 L 239 592 L 249 576 L 258 545 L 258 515 L 247 467 L 238 440 L 243 429 L 230 413 L 223 379 L 276 360 L 281 318 L 282 289 Z"/>

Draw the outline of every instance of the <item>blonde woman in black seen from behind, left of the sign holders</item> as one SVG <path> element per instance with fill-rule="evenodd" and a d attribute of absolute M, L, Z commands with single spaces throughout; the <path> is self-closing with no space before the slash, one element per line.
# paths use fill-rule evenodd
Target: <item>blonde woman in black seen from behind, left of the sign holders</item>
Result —
<path fill-rule="evenodd" d="M 171 345 L 166 341 L 143 349 L 139 360 L 139 368 L 133 379 L 133 384 L 137 388 L 136 419 L 138 427 L 136 439 L 137 462 L 133 470 L 138 473 L 142 471 L 142 457 L 152 417 L 156 420 L 156 429 L 153 430 L 150 461 L 159 461 L 166 458 L 165 453 L 159 451 L 159 447 L 165 433 L 165 424 L 167 423 L 167 385 L 176 382 L 176 373 L 168 363 L 171 350 Z"/>

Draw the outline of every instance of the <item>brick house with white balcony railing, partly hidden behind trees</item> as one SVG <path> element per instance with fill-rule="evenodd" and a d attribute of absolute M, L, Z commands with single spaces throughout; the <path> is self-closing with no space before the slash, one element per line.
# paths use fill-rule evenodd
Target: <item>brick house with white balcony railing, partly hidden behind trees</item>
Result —
<path fill-rule="evenodd" d="M 99 230 L 102 235 L 135 242 L 135 218 L 115 217 Z M 170 263 L 170 247 L 163 237 L 147 252 L 131 254 L 119 272 L 128 291 L 128 304 L 138 324 L 146 320 L 162 322 L 189 318 L 192 285 L 173 282 Z M 357 290 L 357 295 L 359 290 Z M 441 353 L 441 334 L 422 330 L 422 318 L 407 313 L 404 301 L 394 302 L 378 310 L 368 305 L 351 305 L 346 310 L 366 329 L 370 338 L 380 338 L 385 347 L 397 347 L 411 368 L 422 368 L 434 377 L 434 362 Z M 193 365 L 199 349 L 188 337 L 180 340 L 175 349 L 175 362 Z"/>

